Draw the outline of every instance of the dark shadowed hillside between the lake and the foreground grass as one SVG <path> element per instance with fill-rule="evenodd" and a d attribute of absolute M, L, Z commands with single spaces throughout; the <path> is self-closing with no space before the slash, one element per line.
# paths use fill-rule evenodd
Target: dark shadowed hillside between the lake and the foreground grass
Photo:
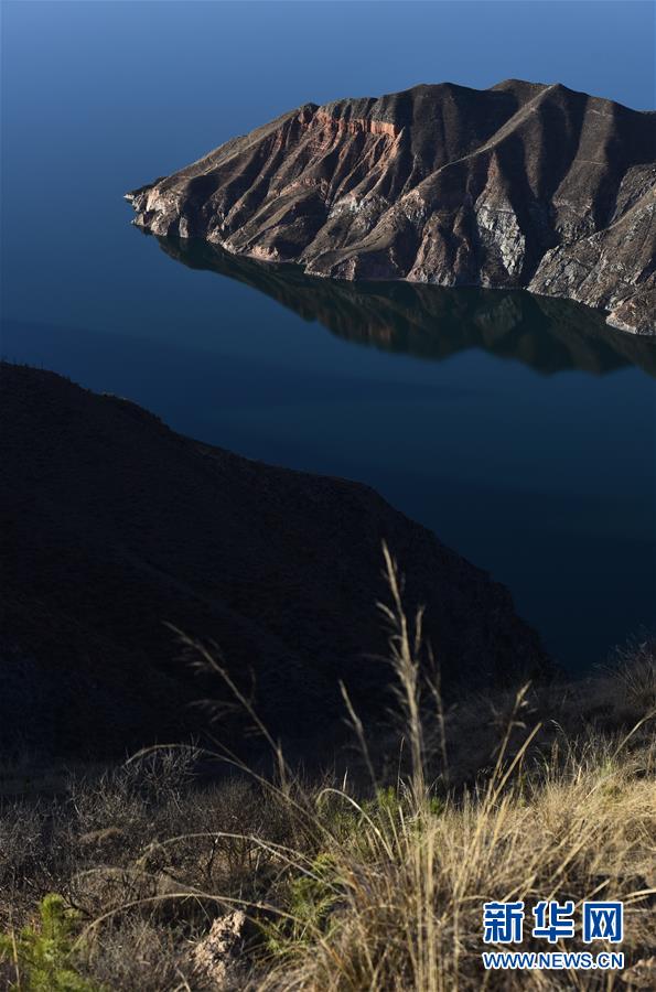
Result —
<path fill-rule="evenodd" d="M 218 644 L 279 733 L 333 733 L 338 679 L 383 712 L 384 539 L 447 689 L 550 670 L 507 590 L 368 487 L 183 438 L 54 373 L 0 373 L 0 750 L 107 753 L 203 725 L 187 703 L 221 687 L 165 622 Z"/>

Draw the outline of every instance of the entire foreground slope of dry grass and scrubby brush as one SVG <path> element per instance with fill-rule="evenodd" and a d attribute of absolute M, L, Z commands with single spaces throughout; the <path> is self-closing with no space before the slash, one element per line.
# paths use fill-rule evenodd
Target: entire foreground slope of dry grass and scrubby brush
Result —
<path fill-rule="evenodd" d="M 159 748 L 6 801 L 6 957 L 41 947 L 33 907 L 56 889 L 42 905 L 66 920 L 57 968 L 74 946 L 80 984 L 52 989 L 649 988 L 654 641 L 585 682 L 445 707 L 387 568 L 402 723 L 366 740 L 346 699 L 357 753 L 312 780 L 271 740 L 270 774 L 224 758 L 213 775 L 200 748 Z M 483 903 L 539 898 L 623 899 L 623 975 L 483 972 Z M 20 988 L 45 988 L 39 975 Z"/>

